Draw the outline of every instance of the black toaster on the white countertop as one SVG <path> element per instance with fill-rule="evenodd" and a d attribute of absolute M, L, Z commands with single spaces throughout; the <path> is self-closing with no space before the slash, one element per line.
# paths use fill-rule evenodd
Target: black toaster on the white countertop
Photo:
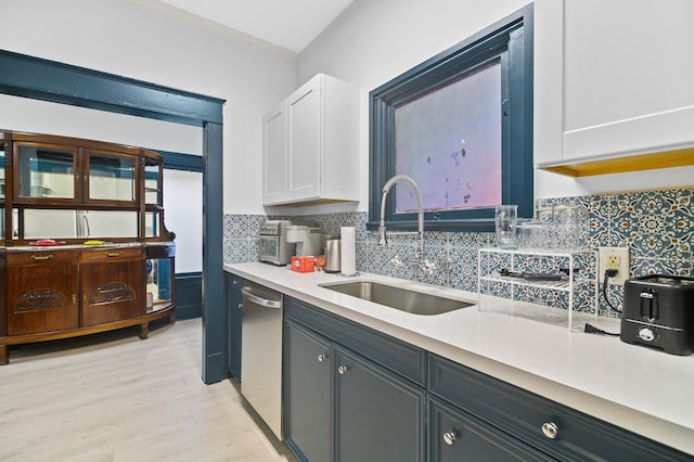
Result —
<path fill-rule="evenodd" d="M 694 279 L 655 274 L 627 280 L 620 338 L 671 355 L 694 352 Z"/>

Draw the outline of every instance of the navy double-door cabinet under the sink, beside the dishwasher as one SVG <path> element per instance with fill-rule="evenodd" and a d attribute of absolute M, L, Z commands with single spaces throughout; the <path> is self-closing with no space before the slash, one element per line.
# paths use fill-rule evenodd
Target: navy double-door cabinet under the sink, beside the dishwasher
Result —
<path fill-rule="evenodd" d="M 355 352 L 364 343 L 349 339 L 368 344 L 363 334 L 375 331 L 314 310 L 285 297 L 284 437 L 290 448 L 311 462 L 425 461 L 425 388 L 401 375 L 412 372 L 410 352 L 391 360 L 403 355 L 400 345 L 380 337 L 385 350 L 374 355 L 385 352 L 386 362 L 402 364 L 399 372 L 386 368 Z M 327 335 L 337 326 L 340 343 Z"/>

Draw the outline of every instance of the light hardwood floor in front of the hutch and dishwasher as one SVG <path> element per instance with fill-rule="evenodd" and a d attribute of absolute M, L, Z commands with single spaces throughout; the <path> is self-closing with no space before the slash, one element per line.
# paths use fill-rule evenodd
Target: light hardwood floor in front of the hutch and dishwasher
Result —
<path fill-rule="evenodd" d="M 202 322 L 14 348 L 0 461 L 295 461 L 239 393 L 201 378 Z"/>

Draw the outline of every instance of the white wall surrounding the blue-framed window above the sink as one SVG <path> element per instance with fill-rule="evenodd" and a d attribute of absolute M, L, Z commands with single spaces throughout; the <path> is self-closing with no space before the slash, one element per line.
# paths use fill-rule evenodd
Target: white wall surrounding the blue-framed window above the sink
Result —
<path fill-rule="evenodd" d="M 360 210 L 368 209 L 369 198 L 369 91 L 527 3 L 527 0 L 355 0 L 300 53 L 299 82 L 323 72 L 361 87 Z M 536 170 L 535 195 L 554 197 L 686 185 L 692 184 L 692 167 L 583 179 Z M 321 211 L 318 207 L 305 210 Z"/>

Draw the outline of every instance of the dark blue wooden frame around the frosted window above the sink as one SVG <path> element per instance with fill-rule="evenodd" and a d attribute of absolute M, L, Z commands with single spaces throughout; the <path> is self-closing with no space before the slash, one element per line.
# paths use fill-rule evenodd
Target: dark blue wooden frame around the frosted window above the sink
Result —
<path fill-rule="evenodd" d="M 502 203 L 517 204 L 519 217 L 532 217 L 532 31 L 529 4 L 370 92 L 369 229 L 378 226 L 383 185 L 396 175 L 397 107 L 492 61 L 502 64 Z M 492 231 L 493 208 L 427 211 L 425 226 Z M 385 220 L 388 228 L 416 228 L 416 213 L 395 213 L 395 194 L 387 197 Z"/>

